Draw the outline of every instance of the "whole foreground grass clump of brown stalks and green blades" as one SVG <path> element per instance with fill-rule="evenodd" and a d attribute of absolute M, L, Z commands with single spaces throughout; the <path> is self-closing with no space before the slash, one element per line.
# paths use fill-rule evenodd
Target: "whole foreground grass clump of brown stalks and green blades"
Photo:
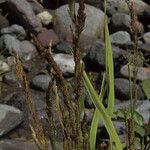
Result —
<path fill-rule="evenodd" d="M 133 60 L 129 62 L 129 73 L 130 65 L 133 65 L 133 75 L 134 75 L 134 86 L 131 86 L 130 81 L 130 91 L 131 91 L 131 105 L 128 110 L 120 110 L 116 113 L 117 118 L 123 118 L 126 127 L 127 127 L 127 142 L 125 148 L 128 150 L 135 150 L 135 131 L 136 127 L 143 127 L 143 118 L 140 114 L 135 112 L 135 105 L 137 100 L 137 90 L 136 90 L 136 76 L 137 76 L 137 57 L 138 57 L 138 48 L 137 48 L 137 31 L 136 31 L 136 16 L 134 12 L 133 3 L 129 0 L 126 0 L 130 13 L 131 13 L 131 33 L 134 40 L 134 50 L 133 50 Z M 69 95 L 70 89 L 67 86 L 67 82 L 63 76 L 62 71 L 60 70 L 57 63 L 54 61 L 52 52 L 51 52 L 51 42 L 49 43 L 49 48 L 45 49 L 41 46 L 35 35 L 32 35 L 34 43 L 37 46 L 37 49 L 42 57 L 44 57 L 47 62 L 51 65 L 49 74 L 52 76 L 52 82 L 49 83 L 48 90 L 46 92 L 46 113 L 48 116 L 48 122 L 50 125 L 50 142 L 53 150 L 56 150 L 56 124 L 55 118 L 53 115 L 53 110 L 59 118 L 59 122 L 62 129 L 63 135 L 63 149 L 64 150 L 96 150 L 96 135 L 99 121 L 104 123 L 104 126 L 109 135 L 109 144 L 107 148 L 109 150 L 123 150 L 123 145 L 120 142 L 119 135 L 116 132 L 116 129 L 113 125 L 114 119 L 114 66 L 113 66 L 113 56 L 111 41 L 109 37 L 108 30 L 108 19 L 106 16 L 106 0 L 105 0 L 105 50 L 106 50 L 106 72 L 103 75 L 103 81 L 101 85 L 101 91 L 98 94 L 92 86 L 92 82 L 89 80 L 86 72 L 84 71 L 84 65 L 81 63 L 81 49 L 80 49 L 80 36 L 85 26 L 86 14 L 84 13 L 84 0 L 79 1 L 79 8 L 76 11 L 75 1 L 69 1 L 68 12 L 72 20 L 71 32 L 73 35 L 73 57 L 75 62 L 75 74 L 74 74 L 74 98 Z M 20 79 L 22 86 L 25 91 L 27 105 L 29 107 L 30 113 L 32 114 L 31 121 L 31 130 L 33 133 L 33 138 L 35 139 L 39 149 L 48 150 L 48 142 L 43 133 L 41 122 L 36 113 L 34 102 L 31 97 L 29 90 L 29 84 L 26 79 L 26 75 L 23 72 L 21 62 L 17 54 L 16 57 L 16 71 L 18 78 Z M 129 75 L 130 76 L 130 75 Z M 90 95 L 90 98 L 95 105 L 94 116 L 92 118 L 92 123 L 90 131 L 88 131 L 88 126 L 86 122 L 86 115 L 84 114 L 81 119 L 82 112 L 82 89 L 83 84 Z M 61 91 L 63 95 L 63 105 L 60 104 L 60 97 L 58 95 L 58 90 Z M 104 107 L 104 95 L 108 101 L 108 106 Z M 136 119 L 140 121 L 135 122 Z M 138 125 L 138 126 L 137 126 Z M 140 134 L 142 135 L 143 128 L 140 128 Z M 138 130 L 138 131 L 139 131 Z M 142 138 L 145 137 L 145 134 L 142 135 Z"/>

